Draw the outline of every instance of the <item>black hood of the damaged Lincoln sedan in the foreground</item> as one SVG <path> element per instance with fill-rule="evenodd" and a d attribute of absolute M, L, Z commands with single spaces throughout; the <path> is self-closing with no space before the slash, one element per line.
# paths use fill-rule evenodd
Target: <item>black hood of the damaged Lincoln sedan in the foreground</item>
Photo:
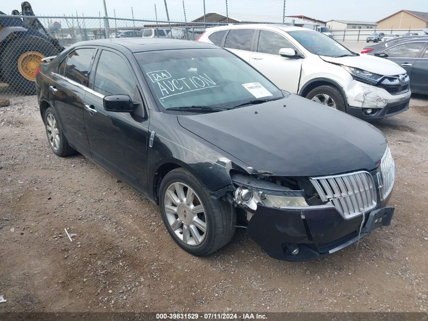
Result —
<path fill-rule="evenodd" d="M 386 149 L 384 136 L 372 125 L 297 95 L 177 118 L 188 131 L 260 173 L 277 176 L 370 170 Z"/>

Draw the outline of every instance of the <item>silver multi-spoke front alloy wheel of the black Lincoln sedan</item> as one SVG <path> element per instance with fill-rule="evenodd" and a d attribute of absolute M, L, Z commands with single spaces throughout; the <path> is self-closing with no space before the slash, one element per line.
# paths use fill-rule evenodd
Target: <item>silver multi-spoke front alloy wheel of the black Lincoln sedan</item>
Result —
<path fill-rule="evenodd" d="M 175 235 L 186 245 L 199 245 L 207 235 L 207 218 L 199 196 L 186 184 L 172 183 L 165 192 L 165 214 Z"/>

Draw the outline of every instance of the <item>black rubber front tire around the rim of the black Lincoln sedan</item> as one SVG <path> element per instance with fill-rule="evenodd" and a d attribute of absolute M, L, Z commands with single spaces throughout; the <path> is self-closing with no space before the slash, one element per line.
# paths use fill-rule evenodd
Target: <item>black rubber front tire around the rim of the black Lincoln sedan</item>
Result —
<path fill-rule="evenodd" d="M 199 245 L 187 245 L 172 230 L 165 212 L 165 193 L 175 183 L 184 183 L 199 196 L 205 209 L 207 233 Z M 209 255 L 226 245 L 235 234 L 236 212 L 233 207 L 221 199 L 211 197 L 207 188 L 188 170 L 176 168 L 165 175 L 159 188 L 159 206 L 165 226 L 174 241 L 185 251 L 196 256 Z"/>

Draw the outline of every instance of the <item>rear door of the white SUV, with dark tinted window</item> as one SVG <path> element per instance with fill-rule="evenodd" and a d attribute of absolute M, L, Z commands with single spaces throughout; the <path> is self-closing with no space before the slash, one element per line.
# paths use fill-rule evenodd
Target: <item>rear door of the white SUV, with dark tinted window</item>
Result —
<path fill-rule="evenodd" d="M 250 62 L 255 31 L 255 29 L 230 29 L 223 47 Z"/>

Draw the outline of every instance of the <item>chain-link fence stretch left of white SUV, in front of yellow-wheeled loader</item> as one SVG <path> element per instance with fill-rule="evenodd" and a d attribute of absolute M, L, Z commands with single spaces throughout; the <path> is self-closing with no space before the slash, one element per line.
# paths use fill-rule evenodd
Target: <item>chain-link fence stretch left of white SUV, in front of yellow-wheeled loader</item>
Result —
<path fill-rule="evenodd" d="M 196 40 L 205 28 L 221 24 L 0 14 L 0 98 L 35 94 L 35 73 L 42 59 L 74 43 L 130 37 Z"/>

